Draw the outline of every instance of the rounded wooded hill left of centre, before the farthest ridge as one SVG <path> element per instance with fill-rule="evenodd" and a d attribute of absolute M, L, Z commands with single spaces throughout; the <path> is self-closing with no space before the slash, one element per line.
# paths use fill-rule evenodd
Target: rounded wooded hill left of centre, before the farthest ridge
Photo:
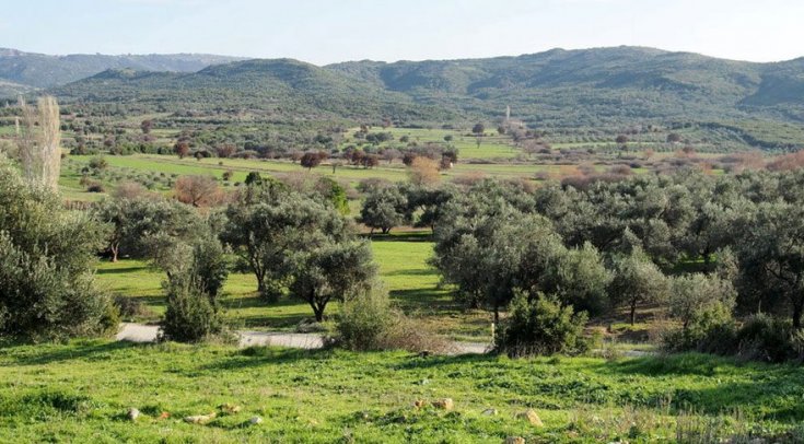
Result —
<path fill-rule="evenodd" d="M 106 70 L 51 90 L 69 102 L 158 105 L 167 110 L 260 109 L 316 118 L 438 116 L 454 119 L 412 97 L 387 91 L 337 70 L 292 59 L 245 60 L 195 73 Z"/>

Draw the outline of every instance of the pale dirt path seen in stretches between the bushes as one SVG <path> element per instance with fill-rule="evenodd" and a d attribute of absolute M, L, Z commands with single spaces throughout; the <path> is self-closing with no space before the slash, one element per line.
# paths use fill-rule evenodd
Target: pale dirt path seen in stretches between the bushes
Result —
<path fill-rule="evenodd" d="M 155 342 L 159 335 L 159 326 L 124 323 L 120 332 L 117 334 L 118 341 L 130 342 Z M 321 349 L 324 347 L 324 337 L 316 334 L 293 334 L 280 331 L 237 331 L 240 335 L 240 347 L 250 346 L 275 346 L 292 349 Z M 488 350 L 488 346 L 480 342 L 453 342 L 455 352 L 452 354 L 481 354 Z"/>

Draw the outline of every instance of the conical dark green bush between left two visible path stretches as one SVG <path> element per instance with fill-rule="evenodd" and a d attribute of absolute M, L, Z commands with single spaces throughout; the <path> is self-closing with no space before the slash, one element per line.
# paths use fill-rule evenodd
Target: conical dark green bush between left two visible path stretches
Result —
<path fill-rule="evenodd" d="M 218 306 L 200 284 L 174 278 L 167 284 L 167 309 L 162 319 L 162 339 L 200 342 L 224 332 Z"/>

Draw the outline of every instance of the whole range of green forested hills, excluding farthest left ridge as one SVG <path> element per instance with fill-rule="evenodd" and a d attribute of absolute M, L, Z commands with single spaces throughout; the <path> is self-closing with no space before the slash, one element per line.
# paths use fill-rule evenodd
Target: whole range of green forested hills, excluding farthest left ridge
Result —
<path fill-rule="evenodd" d="M 450 116 L 501 117 L 511 106 L 513 117 L 547 126 L 652 119 L 801 122 L 804 59 L 753 63 L 616 47 L 326 67 L 290 59 L 248 60 L 193 74 L 105 72 L 55 92 L 68 100 L 191 102 L 197 108 L 324 110 L 342 117 L 418 113 L 433 121 Z"/>

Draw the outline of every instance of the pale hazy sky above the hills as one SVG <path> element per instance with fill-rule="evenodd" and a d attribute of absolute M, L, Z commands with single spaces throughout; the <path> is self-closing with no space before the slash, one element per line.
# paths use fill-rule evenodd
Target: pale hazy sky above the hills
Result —
<path fill-rule="evenodd" d="M 804 56 L 804 0 L 0 1 L 0 47 L 343 60 L 640 45 L 741 60 Z"/>

